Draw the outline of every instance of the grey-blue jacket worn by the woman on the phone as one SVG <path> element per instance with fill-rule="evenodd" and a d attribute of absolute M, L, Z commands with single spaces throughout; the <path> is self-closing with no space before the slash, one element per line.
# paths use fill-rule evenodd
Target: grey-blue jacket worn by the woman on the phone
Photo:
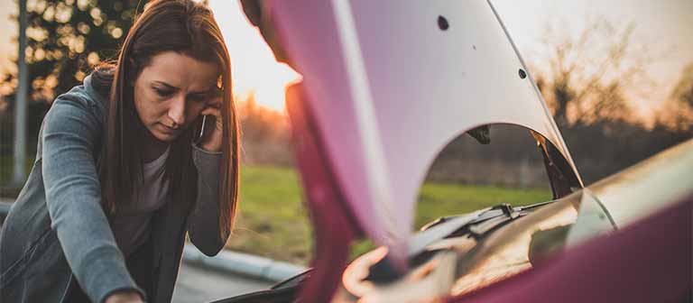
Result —
<path fill-rule="evenodd" d="M 193 148 L 196 207 L 167 203 L 157 210 L 147 249 L 137 265 L 126 264 L 101 206 L 97 150 L 105 117 L 106 99 L 88 77 L 58 96 L 44 118 L 36 160 L 0 234 L 0 302 L 66 302 L 77 287 L 92 302 L 122 289 L 170 302 L 186 232 L 207 255 L 224 247 L 217 215 L 221 154 Z"/>

